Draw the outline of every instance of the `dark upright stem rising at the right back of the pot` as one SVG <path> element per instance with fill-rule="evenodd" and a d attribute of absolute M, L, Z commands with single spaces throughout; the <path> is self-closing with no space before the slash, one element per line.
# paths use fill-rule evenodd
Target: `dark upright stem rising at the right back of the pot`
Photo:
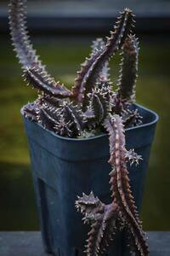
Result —
<path fill-rule="evenodd" d="M 122 45 L 121 70 L 117 82 L 117 96 L 127 102 L 135 102 L 136 100 L 138 62 L 139 41 L 134 35 L 129 35 Z"/>

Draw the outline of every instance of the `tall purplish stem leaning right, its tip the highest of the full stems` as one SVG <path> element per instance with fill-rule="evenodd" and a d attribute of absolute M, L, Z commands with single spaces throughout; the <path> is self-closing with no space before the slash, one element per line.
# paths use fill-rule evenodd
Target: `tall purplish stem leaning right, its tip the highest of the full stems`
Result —
<path fill-rule="evenodd" d="M 117 20 L 117 26 L 114 27 L 114 32 L 111 32 L 111 37 L 107 38 L 107 44 L 105 49 L 99 55 L 96 55 L 91 66 L 88 68 L 88 73 L 82 80 L 83 98 L 82 109 L 86 109 L 88 106 L 88 93 L 94 88 L 94 84 L 99 77 L 99 73 L 104 67 L 105 63 L 110 60 L 111 56 L 116 53 L 117 49 L 120 49 L 124 39 L 127 38 L 127 34 L 131 32 L 133 26 L 133 14 L 130 9 L 125 9 L 121 16 Z"/>

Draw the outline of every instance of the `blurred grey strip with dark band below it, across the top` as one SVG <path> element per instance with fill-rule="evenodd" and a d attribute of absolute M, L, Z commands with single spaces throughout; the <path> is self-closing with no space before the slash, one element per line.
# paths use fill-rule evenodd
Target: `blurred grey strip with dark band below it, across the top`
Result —
<path fill-rule="evenodd" d="M 170 31 L 168 0 L 28 1 L 28 23 L 32 32 L 108 32 L 125 7 L 137 15 L 137 32 Z M 0 32 L 8 31 L 7 15 L 7 3 L 0 3 Z"/>

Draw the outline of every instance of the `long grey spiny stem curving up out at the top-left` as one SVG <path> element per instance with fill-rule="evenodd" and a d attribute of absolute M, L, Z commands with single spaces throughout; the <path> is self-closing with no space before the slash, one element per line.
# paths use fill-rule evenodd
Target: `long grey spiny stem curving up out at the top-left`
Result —
<path fill-rule="evenodd" d="M 58 96 L 56 90 L 59 90 L 59 95 L 62 90 L 63 95 L 70 96 L 71 92 L 68 92 L 65 87 L 56 83 L 47 73 L 45 66 L 42 65 L 42 62 L 36 54 L 36 50 L 32 47 L 26 30 L 26 0 L 10 0 L 9 25 L 14 50 L 16 51 L 20 64 L 26 73 L 29 73 L 32 69 L 36 69 L 38 79 L 41 78 L 40 80 L 48 81 L 47 84 L 45 83 L 46 88 L 48 88 L 48 92 L 53 94 L 53 90 L 55 90 L 55 96 Z M 41 85 L 42 84 L 39 84 L 38 89 L 44 91 L 44 86 L 41 87 Z"/>

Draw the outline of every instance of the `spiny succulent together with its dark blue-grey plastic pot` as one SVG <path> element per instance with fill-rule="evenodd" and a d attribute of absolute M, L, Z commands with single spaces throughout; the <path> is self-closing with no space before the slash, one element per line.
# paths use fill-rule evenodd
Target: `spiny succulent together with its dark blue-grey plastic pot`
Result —
<path fill-rule="evenodd" d="M 37 100 L 21 113 L 45 250 L 83 255 L 88 237 L 88 256 L 104 253 L 109 241 L 107 255 L 149 255 L 138 211 L 158 117 L 135 103 L 139 42 L 132 11 L 124 9 L 109 38 L 94 41 L 68 90 L 47 73 L 30 43 L 26 0 L 11 0 L 9 6 L 23 76 L 38 90 Z M 109 61 L 117 51 L 122 63 L 113 90 Z"/>

